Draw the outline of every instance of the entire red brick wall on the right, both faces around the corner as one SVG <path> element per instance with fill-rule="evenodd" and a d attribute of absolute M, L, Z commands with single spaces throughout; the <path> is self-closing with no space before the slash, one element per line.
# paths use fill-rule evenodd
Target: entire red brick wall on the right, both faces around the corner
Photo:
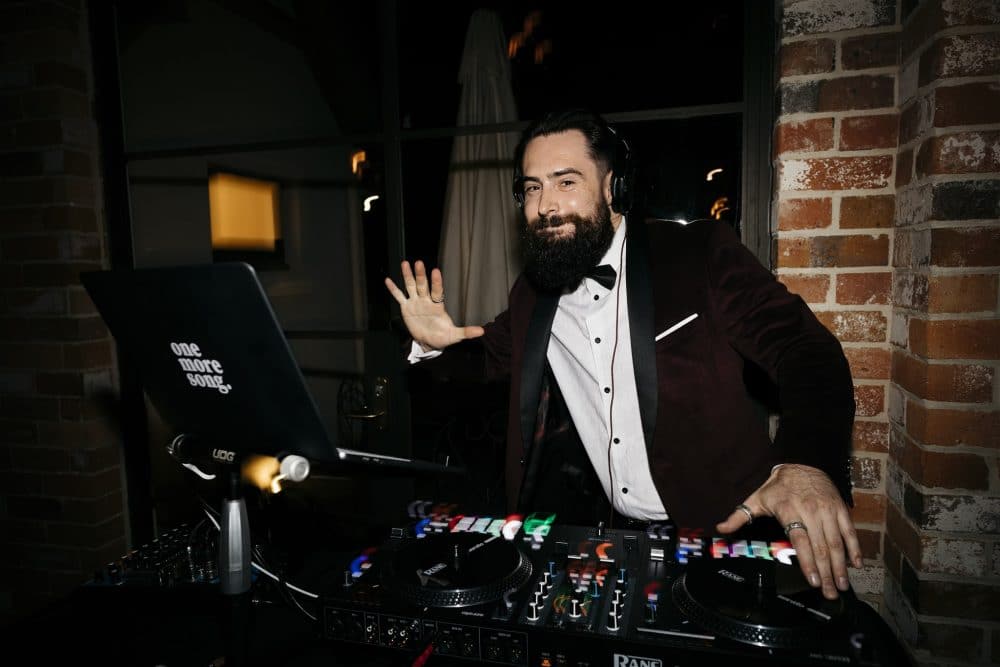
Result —
<path fill-rule="evenodd" d="M 922 664 L 1000 662 L 1000 4 L 783 3 L 775 264 L 858 402 L 855 588 Z"/>

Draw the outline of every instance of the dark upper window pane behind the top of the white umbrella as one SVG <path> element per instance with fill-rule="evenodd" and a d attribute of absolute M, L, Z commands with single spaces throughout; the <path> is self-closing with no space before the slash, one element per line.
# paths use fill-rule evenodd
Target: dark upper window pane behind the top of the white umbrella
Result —
<path fill-rule="evenodd" d="M 434 12 L 400 4 L 404 127 L 455 124 L 465 32 L 479 6 Z M 566 106 L 607 113 L 742 99 L 742 2 L 670 3 L 666 10 L 625 2 L 600 12 L 512 2 L 494 9 L 512 55 L 521 119 Z"/>

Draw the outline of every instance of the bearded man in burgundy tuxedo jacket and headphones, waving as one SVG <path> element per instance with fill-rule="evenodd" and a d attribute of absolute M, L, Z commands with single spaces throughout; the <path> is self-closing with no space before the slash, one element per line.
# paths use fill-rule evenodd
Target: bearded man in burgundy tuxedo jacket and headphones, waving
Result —
<path fill-rule="evenodd" d="M 586 502 L 586 480 L 582 491 L 559 481 L 582 459 L 624 517 L 723 534 L 774 517 L 806 578 L 834 599 L 848 560 L 861 565 L 845 504 L 854 398 L 840 344 L 725 224 L 626 220 L 626 153 L 588 112 L 529 127 L 514 183 L 525 270 L 508 310 L 457 327 L 440 271 L 403 262 L 406 292 L 386 287 L 411 361 L 478 339 L 487 373 L 509 374 L 507 489 L 519 509 Z M 748 364 L 778 389 L 773 443 Z"/>

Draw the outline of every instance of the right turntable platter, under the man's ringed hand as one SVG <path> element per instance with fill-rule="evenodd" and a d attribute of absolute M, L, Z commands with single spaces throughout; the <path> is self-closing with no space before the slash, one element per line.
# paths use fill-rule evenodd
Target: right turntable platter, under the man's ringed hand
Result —
<path fill-rule="evenodd" d="M 692 562 L 672 594 L 684 614 L 706 630 L 770 648 L 808 649 L 847 613 L 845 594 L 827 600 L 797 565 L 762 559 Z"/>

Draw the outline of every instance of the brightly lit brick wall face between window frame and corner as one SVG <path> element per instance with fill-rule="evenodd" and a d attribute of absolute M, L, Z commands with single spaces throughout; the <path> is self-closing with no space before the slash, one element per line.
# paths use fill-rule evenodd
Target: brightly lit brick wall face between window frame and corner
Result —
<path fill-rule="evenodd" d="M 898 43 L 891 2 L 783 7 L 774 264 L 840 338 L 851 364 L 853 516 L 865 558 L 852 581 L 876 605 L 889 445 Z"/>

